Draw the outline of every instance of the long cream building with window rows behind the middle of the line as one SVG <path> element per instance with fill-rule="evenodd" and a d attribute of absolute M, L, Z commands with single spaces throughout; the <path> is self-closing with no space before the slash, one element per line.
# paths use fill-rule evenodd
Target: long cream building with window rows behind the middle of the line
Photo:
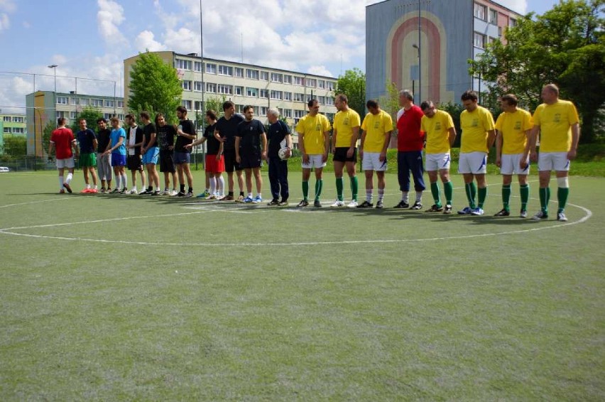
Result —
<path fill-rule="evenodd" d="M 269 107 L 276 108 L 288 124 L 295 124 L 307 114 L 307 100 L 320 102 L 320 112 L 334 119 L 334 89 L 337 80 L 322 75 L 307 74 L 273 67 L 263 67 L 227 60 L 200 58 L 170 51 L 154 52 L 165 63 L 173 65 L 182 85 L 182 105 L 201 114 L 202 90 L 204 100 L 225 99 L 236 104 L 236 112 L 245 105 L 254 107 L 256 118 L 266 123 Z M 129 98 L 130 72 L 138 55 L 124 60 L 124 99 Z M 203 74 L 202 74 L 203 72 Z M 195 116 L 195 115 L 194 115 Z M 194 116 L 190 118 L 193 119 Z"/>

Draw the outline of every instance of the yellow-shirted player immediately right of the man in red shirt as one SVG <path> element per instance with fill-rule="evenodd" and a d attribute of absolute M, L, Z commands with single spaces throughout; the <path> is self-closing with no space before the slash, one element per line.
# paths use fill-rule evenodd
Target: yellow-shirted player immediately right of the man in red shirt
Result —
<path fill-rule="evenodd" d="M 444 214 L 451 214 L 454 185 L 449 180 L 449 163 L 452 160 L 449 150 L 456 140 L 454 121 L 449 113 L 435 109 L 435 104 L 432 101 L 423 102 L 420 104 L 420 109 L 425 114 L 420 121 L 420 128 L 426 134 L 426 168 L 430 180 L 430 191 L 435 200 L 435 204 L 427 212 L 443 211 Z M 445 207 L 442 205 L 439 196 L 437 174 L 443 183 Z"/>

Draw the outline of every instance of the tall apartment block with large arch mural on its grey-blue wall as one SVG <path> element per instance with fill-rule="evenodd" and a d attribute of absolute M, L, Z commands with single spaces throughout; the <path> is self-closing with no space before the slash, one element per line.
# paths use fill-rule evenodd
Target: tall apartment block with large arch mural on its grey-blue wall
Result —
<path fill-rule="evenodd" d="M 474 60 L 503 40 L 518 13 L 491 0 L 386 0 L 366 6 L 366 97 L 386 95 L 386 83 L 415 89 L 416 102 L 459 102 L 484 89 L 469 75 Z M 481 87 L 481 88 L 480 88 Z M 420 99 L 422 97 L 422 99 Z"/>

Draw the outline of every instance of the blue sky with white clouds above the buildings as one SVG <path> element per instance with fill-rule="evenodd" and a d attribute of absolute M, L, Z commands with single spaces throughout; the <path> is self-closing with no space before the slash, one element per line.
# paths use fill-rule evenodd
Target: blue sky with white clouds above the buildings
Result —
<path fill-rule="evenodd" d="M 363 71 L 365 6 L 377 2 L 202 0 L 204 56 L 331 77 Z M 541 14 L 558 0 L 499 2 Z M 146 49 L 201 53 L 200 0 L 0 0 L 0 49 L 5 113 L 34 90 L 52 91 L 55 72 L 58 92 L 113 95 L 116 82 L 120 97 L 125 58 Z"/>

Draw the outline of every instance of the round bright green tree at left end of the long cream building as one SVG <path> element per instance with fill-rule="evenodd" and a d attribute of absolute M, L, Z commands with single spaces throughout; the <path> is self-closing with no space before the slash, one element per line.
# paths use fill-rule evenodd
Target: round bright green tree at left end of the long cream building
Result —
<path fill-rule="evenodd" d="M 133 113 L 138 114 L 143 110 L 153 115 L 163 113 L 166 121 L 176 121 L 182 87 L 175 67 L 147 51 L 139 53 L 130 77 L 128 107 Z"/>

